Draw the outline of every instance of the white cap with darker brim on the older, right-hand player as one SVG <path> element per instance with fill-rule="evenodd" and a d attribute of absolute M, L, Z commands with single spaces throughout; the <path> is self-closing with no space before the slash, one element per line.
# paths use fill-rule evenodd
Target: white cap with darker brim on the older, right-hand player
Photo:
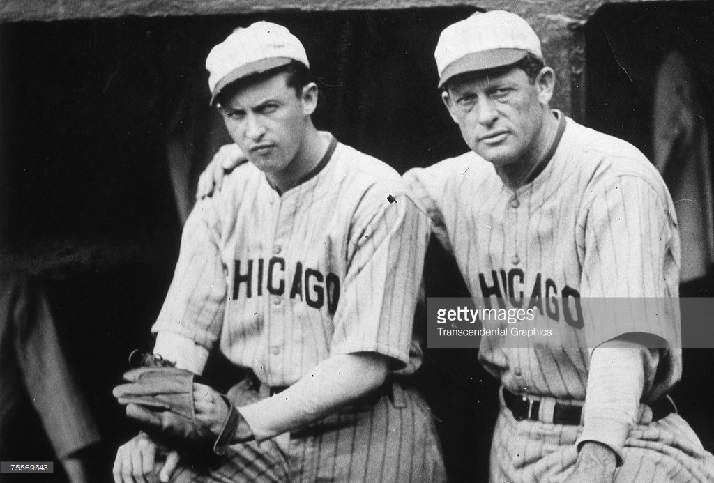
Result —
<path fill-rule="evenodd" d="M 439 87 L 457 74 L 508 66 L 528 53 L 543 59 L 528 22 L 504 10 L 478 12 L 441 32 L 434 51 Z"/>

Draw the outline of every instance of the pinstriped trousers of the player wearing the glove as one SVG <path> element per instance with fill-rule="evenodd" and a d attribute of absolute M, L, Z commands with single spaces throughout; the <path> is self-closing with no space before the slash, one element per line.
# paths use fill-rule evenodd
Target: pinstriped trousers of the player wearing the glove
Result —
<path fill-rule="evenodd" d="M 175 482 L 444 482 L 441 446 L 413 388 L 353 405 L 282 439 L 236 444 L 213 470 L 183 468 Z"/>

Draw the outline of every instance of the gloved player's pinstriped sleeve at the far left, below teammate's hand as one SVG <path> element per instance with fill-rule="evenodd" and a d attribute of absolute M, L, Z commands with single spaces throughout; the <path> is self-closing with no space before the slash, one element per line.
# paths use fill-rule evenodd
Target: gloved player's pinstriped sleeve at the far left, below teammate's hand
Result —
<path fill-rule="evenodd" d="M 172 332 L 208 350 L 218 340 L 226 301 L 220 229 L 213 199 L 199 200 L 183 227 L 174 278 L 152 332 Z"/>

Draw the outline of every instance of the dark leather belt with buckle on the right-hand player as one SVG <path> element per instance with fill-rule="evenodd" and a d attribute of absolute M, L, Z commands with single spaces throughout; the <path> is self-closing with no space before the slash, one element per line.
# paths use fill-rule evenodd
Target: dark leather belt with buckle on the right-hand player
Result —
<path fill-rule="evenodd" d="M 511 410 L 513 418 L 516 421 L 539 420 L 540 400 L 532 399 L 528 396 L 513 394 L 513 392 L 504 387 L 503 402 L 505 402 L 506 407 Z M 674 404 L 668 397 L 662 397 L 660 400 L 653 402 L 653 404 L 649 406 L 652 409 L 653 421 L 661 420 L 663 417 L 675 412 Z M 555 402 L 555 407 L 553 407 L 553 423 L 579 426 L 580 415 L 582 412 L 582 406 L 566 405 L 561 402 Z"/>

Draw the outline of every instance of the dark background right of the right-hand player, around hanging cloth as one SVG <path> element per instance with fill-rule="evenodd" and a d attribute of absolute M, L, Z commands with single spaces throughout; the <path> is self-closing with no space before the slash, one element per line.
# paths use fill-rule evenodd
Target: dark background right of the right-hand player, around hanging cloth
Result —
<path fill-rule="evenodd" d="M 586 45 L 586 124 L 630 141 L 653 155 L 655 73 L 670 51 L 683 53 L 697 81 L 700 113 L 707 123 L 710 153 L 714 119 L 714 3 L 608 5 L 588 21 Z M 711 164 L 711 163 L 710 163 Z M 680 288 L 682 296 L 714 296 L 709 277 Z M 688 324 L 711 320 L 683 320 Z M 714 349 L 685 349 L 683 378 L 673 392 L 680 414 L 705 447 L 714 450 Z"/>

